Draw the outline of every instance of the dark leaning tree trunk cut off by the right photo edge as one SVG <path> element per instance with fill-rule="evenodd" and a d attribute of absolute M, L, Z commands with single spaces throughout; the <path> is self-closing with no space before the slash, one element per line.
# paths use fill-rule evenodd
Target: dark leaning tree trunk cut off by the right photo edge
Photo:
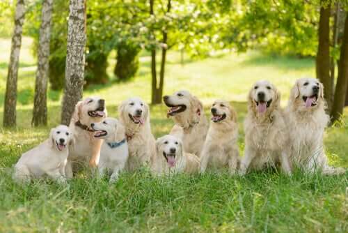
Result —
<path fill-rule="evenodd" d="M 337 121 L 345 107 L 348 85 L 348 17 L 345 20 L 345 33 L 342 40 L 340 61 L 338 62 L 338 78 L 333 102 L 332 121 Z"/>

